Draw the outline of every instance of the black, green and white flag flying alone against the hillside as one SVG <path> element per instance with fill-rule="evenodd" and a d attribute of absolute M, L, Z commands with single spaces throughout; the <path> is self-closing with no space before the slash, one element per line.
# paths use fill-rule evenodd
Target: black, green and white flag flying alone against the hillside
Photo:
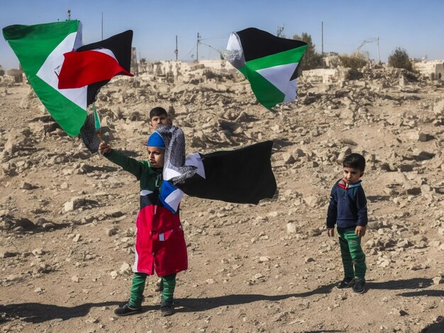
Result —
<path fill-rule="evenodd" d="M 298 65 L 306 43 L 279 38 L 257 28 L 232 33 L 226 60 L 250 81 L 257 101 L 266 108 L 296 99 Z"/>

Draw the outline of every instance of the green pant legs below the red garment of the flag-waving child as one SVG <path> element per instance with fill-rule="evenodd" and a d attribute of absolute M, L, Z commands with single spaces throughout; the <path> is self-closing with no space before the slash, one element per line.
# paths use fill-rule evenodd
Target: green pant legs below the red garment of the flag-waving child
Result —
<path fill-rule="evenodd" d="M 138 308 L 142 305 L 143 290 L 145 290 L 145 281 L 148 274 L 134 273 L 133 286 L 131 286 L 131 295 L 128 305 L 132 308 Z M 176 288 L 176 274 L 162 276 L 162 300 L 173 300 L 174 288 Z"/>

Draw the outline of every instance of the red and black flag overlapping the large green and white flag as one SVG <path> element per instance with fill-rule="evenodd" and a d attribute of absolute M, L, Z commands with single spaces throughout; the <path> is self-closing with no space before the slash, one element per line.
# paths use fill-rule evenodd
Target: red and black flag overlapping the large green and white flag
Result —
<path fill-rule="evenodd" d="M 87 103 L 95 100 L 96 92 L 117 74 L 133 77 L 131 43 L 133 30 L 127 30 L 100 42 L 84 45 L 65 53 L 59 74 L 59 89 L 88 86 Z"/>

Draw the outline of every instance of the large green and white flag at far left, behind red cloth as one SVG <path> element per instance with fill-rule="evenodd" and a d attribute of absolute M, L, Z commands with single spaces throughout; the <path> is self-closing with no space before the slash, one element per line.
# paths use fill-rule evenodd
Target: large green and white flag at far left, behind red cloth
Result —
<path fill-rule="evenodd" d="M 82 45 L 80 21 L 7 26 L 3 35 L 52 118 L 68 135 L 79 135 L 87 118 L 87 87 L 59 89 L 57 73 L 63 55 Z"/>

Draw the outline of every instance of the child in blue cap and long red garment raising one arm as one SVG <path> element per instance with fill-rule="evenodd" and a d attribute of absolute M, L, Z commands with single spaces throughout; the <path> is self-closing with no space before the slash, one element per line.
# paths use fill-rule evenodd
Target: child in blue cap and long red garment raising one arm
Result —
<path fill-rule="evenodd" d="M 105 142 L 100 152 L 111 162 L 122 166 L 140 181 L 140 210 L 136 221 L 134 276 L 130 300 L 114 313 L 132 315 L 140 311 L 145 280 L 157 273 L 162 278 L 162 315 L 172 315 L 176 274 L 188 268 L 187 245 L 179 213 L 174 214 L 160 202 L 165 142 L 158 132 L 148 138 L 148 161 L 137 161 L 116 152 Z"/>

